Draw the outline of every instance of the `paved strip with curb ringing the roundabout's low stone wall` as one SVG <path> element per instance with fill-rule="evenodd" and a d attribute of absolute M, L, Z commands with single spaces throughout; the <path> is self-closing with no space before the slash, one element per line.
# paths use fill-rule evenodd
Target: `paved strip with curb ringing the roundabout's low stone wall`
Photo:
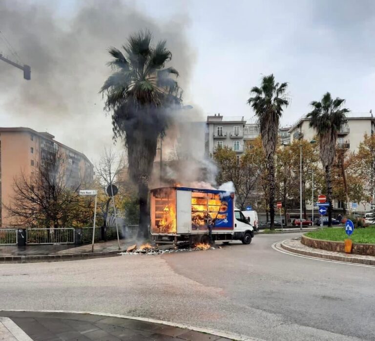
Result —
<path fill-rule="evenodd" d="M 322 249 L 315 249 L 313 247 L 309 247 L 309 246 L 302 244 L 301 239 L 299 237 L 281 241 L 279 245 L 276 245 L 276 248 L 278 246 L 280 246 L 282 249 L 286 251 L 300 254 L 300 255 L 309 256 L 309 257 L 314 257 L 314 258 L 375 265 L 374 256 L 355 255 L 355 254 L 348 254 L 344 252 L 335 252 L 335 251 L 327 251 L 327 250 L 322 250 Z"/>

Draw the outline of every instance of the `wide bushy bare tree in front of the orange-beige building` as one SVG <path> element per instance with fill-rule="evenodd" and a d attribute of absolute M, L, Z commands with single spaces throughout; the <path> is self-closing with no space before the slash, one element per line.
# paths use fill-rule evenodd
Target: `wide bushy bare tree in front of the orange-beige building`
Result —
<path fill-rule="evenodd" d="M 76 192 L 80 184 L 68 185 L 70 175 L 59 151 L 45 153 L 31 176 L 21 172 L 14 179 L 11 203 L 4 205 L 12 225 L 60 228 L 71 224 L 75 207 L 79 206 Z"/>

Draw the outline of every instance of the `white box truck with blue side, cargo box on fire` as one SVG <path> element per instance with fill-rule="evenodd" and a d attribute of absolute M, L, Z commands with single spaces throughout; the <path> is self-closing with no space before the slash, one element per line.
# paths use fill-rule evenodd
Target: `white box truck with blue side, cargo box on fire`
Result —
<path fill-rule="evenodd" d="M 156 243 L 196 244 L 240 240 L 254 230 L 234 207 L 234 193 L 215 189 L 161 187 L 150 192 L 150 234 Z"/>

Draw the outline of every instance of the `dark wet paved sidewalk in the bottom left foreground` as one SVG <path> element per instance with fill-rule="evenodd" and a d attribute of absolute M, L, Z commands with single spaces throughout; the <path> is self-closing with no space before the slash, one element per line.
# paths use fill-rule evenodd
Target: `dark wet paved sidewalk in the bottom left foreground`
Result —
<path fill-rule="evenodd" d="M 0 315 L 9 317 L 34 341 L 233 340 L 170 325 L 101 315 L 19 311 L 0 311 Z M 0 330 L 3 340 L 1 336 Z"/>

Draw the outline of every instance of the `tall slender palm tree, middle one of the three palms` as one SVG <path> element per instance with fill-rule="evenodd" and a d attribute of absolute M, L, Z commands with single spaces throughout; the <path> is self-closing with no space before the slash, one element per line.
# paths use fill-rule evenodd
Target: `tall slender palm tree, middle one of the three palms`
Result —
<path fill-rule="evenodd" d="M 278 141 L 278 129 L 280 117 L 283 113 L 283 107 L 287 107 L 289 101 L 285 91 L 288 83 L 275 83 L 272 75 L 265 76 L 262 79 L 260 87 L 254 86 L 248 104 L 251 105 L 258 118 L 258 124 L 262 137 L 262 144 L 265 151 L 268 168 L 268 187 L 269 187 L 269 206 L 271 230 L 274 230 L 275 217 L 275 160 L 274 154 Z"/>

